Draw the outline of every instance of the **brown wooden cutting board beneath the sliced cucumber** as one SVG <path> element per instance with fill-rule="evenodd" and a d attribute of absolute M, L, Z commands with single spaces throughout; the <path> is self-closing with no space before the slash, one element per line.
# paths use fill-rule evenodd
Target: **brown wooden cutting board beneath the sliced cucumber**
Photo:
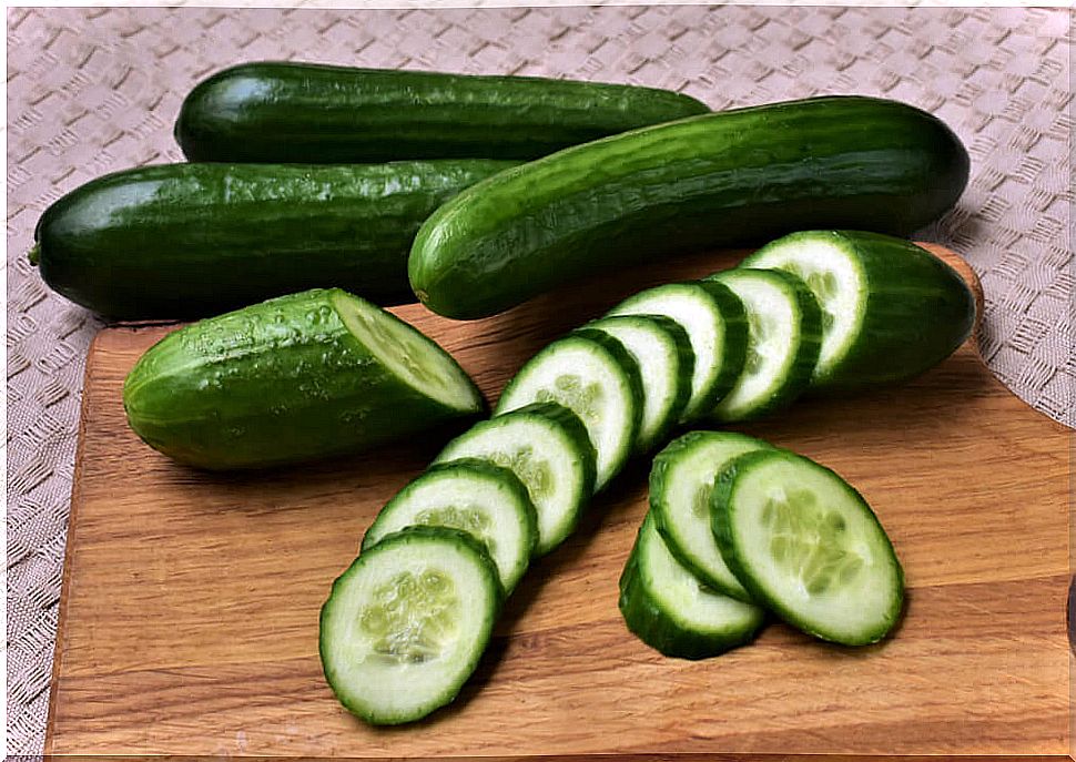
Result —
<path fill-rule="evenodd" d="M 496 399 L 565 331 L 741 254 L 595 280 L 473 323 L 394 312 Z M 120 394 L 168 329 L 103 331 L 88 359 L 47 753 L 1068 752 L 1072 434 L 996 382 L 971 342 L 906 386 L 801 400 L 742 427 L 834 468 L 875 508 L 907 575 L 892 639 L 836 648 L 774 623 L 708 661 L 648 649 L 617 610 L 646 510 L 640 460 L 531 569 L 456 703 L 375 730 L 322 678 L 318 609 L 441 440 L 256 475 L 176 466 L 126 428 Z"/>

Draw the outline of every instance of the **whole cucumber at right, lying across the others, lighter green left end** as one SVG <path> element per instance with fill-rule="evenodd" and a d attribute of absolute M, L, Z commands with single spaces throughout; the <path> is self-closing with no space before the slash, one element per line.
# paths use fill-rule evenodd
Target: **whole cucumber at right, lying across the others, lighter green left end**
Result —
<path fill-rule="evenodd" d="M 953 205 L 967 152 L 894 101 L 829 96 L 679 120 L 566 149 L 464 191 L 408 262 L 430 309 L 477 318 L 673 251 L 805 227 L 907 234 Z"/>

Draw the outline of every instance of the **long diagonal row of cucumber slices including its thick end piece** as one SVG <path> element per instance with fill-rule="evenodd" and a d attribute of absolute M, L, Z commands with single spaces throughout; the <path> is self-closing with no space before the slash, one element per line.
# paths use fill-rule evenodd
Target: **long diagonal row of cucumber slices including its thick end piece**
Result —
<path fill-rule="evenodd" d="M 973 318 L 971 293 L 942 262 L 851 232 L 785 236 L 734 270 L 626 299 L 535 355 L 494 417 L 380 511 L 322 610 L 328 683 L 373 723 L 445 705 L 530 559 L 571 532 L 629 457 L 679 425 L 765 415 L 809 387 L 916 375 L 952 353 Z M 712 547 L 697 552 L 712 568 L 699 568 L 713 576 L 700 579 L 733 599 L 757 595 L 719 565 L 703 529 Z"/>

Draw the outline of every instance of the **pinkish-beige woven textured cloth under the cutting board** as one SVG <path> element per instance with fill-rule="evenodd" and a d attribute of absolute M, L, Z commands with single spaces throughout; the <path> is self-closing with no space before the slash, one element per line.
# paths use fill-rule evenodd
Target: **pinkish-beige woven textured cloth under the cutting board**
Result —
<path fill-rule="evenodd" d="M 180 161 L 184 93 L 252 59 L 568 75 L 712 108 L 877 94 L 944 119 L 972 153 L 927 231 L 986 289 L 983 353 L 1076 425 L 1068 10 L 631 7 L 499 10 L 12 9 L 8 12 L 8 731 L 41 749 L 79 399 L 100 323 L 28 265 L 39 214 L 104 172 Z"/>

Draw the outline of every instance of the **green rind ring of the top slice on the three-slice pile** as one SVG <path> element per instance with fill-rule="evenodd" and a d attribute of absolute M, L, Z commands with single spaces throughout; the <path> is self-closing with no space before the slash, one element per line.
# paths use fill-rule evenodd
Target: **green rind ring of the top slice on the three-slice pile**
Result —
<path fill-rule="evenodd" d="M 729 568 L 732 569 L 732 572 L 737 576 L 737 579 L 739 579 L 743 587 L 751 592 L 752 598 L 798 630 L 819 638 L 820 640 L 826 640 L 830 642 L 840 643 L 842 646 L 870 646 L 871 643 L 879 642 L 890 633 L 901 618 L 901 611 L 904 608 L 904 568 L 901 566 L 901 562 L 896 557 L 896 551 L 893 548 L 893 543 L 890 541 L 889 535 L 885 534 L 885 529 L 882 527 L 881 521 L 877 520 L 877 516 L 871 509 L 867 501 L 863 499 L 863 496 L 860 495 L 859 490 L 844 481 L 844 479 L 832 469 L 814 463 L 813 460 L 809 460 L 812 466 L 833 474 L 833 476 L 840 479 L 841 484 L 843 484 L 847 489 L 849 495 L 866 507 L 867 514 L 871 515 L 871 518 L 879 527 L 881 537 L 885 541 L 885 546 L 889 548 L 890 556 L 896 569 L 896 595 L 893 597 L 892 606 L 882 626 L 873 632 L 863 632 L 859 638 L 839 637 L 833 632 L 813 627 L 798 617 L 795 611 L 790 610 L 780 600 L 774 598 L 763 586 L 755 583 L 750 571 L 744 567 L 743 560 L 740 558 L 737 549 L 735 536 L 732 532 L 732 522 L 729 515 L 729 511 L 733 509 L 732 506 L 735 481 L 740 474 L 750 469 L 754 464 L 765 458 L 774 457 L 775 455 L 778 457 L 789 457 L 796 460 L 808 460 L 803 456 L 796 455 L 790 450 L 781 450 L 771 447 L 768 450 L 754 450 L 734 458 L 732 463 L 730 463 L 725 469 L 718 475 L 718 479 L 714 482 L 713 492 L 710 495 L 710 526 L 713 531 L 713 536 L 718 541 L 718 546 L 721 548 L 721 555 L 724 557 Z"/>

